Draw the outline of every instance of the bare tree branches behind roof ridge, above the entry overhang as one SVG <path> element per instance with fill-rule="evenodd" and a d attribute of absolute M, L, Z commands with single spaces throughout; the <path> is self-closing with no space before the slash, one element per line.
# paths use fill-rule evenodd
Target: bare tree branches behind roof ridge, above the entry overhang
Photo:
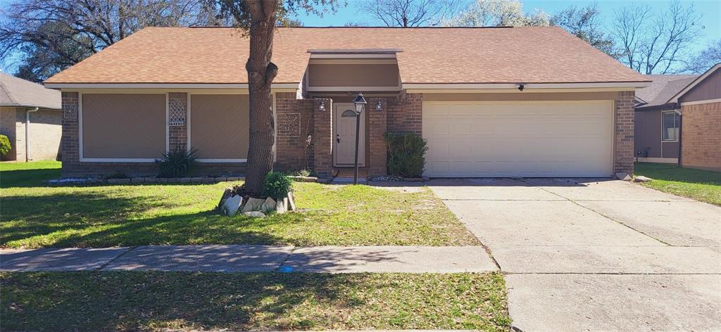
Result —
<path fill-rule="evenodd" d="M 440 24 L 458 6 L 458 0 L 363 0 L 358 10 L 387 27 L 421 27 Z"/>

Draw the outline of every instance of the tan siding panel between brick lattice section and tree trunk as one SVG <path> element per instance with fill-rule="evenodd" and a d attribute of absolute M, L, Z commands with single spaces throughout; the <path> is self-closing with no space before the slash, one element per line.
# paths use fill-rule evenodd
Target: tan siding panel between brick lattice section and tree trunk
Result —
<path fill-rule="evenodd" d="M 247 94 L 190 95 L 190 146 L 199 158 L 247 158 L 248 107 Z"/>

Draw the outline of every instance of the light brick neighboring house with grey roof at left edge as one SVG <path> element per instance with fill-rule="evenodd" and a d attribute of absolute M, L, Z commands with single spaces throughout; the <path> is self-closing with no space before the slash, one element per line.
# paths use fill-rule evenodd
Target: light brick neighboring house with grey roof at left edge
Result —
<path fill-rule="evenodd" d="M 12 146 L 2 160 L 58 159 L 61 122 L 60 91 L 0 73 L 0 134 Z"/>

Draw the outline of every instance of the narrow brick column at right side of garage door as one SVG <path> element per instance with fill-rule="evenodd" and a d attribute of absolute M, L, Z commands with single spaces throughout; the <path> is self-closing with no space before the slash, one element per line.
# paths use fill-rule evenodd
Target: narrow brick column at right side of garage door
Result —
<path fill-rule="evenodd" d="M 616 95 L 614 172 L 633 174 L 634 159 L 634 91 Z"/>

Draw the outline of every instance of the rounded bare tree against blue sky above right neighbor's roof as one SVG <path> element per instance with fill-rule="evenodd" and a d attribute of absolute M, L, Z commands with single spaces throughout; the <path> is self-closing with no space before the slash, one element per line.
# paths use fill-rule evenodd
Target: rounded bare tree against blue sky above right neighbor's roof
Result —
<path fill-rule="evenodd" d="M 629 6 L 616 12 L 611 34 L 619 45 L 621 60 L 639 73 L 684 71 L 689 46 L 701 35 L 694 6 L 673 1 L 668 10 L 653 14 L 649 6 Z"/>

